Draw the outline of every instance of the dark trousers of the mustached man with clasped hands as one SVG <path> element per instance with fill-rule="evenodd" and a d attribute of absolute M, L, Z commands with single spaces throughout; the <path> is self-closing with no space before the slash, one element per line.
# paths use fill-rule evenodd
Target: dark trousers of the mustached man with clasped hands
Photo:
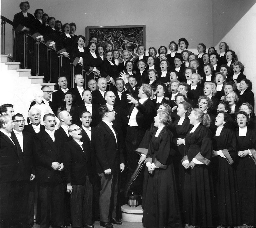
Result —
<path fill-rule="evenodd" d="M 41 206 L 40 228 L 50 225 L 50 211 L 52 211 L 52 225 L 64 225 L 64 184 L 58 182 L 38 183 L 39 203 Z"/>

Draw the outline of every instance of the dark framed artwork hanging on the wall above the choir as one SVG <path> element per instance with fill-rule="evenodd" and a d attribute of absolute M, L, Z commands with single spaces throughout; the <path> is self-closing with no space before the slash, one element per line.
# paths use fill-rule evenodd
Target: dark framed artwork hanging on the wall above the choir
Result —
<path fill-rule="evenodd" d="M 97 44 L 104 47 L 111 44 L 113 49 L 120 52 L 129 50 L 134 58 L 138 45 L 146 44 L 146 25 L 87 26 L 87 44 L 93 35 L 98 39 Z"/>

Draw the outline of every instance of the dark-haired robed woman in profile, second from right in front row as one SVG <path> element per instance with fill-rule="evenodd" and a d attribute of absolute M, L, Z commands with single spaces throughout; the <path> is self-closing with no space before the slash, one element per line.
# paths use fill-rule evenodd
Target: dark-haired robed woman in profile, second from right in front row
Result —
<path fill-rule="evenodd" d="M 233 121 L 229 114 L 219 111 L 214 130 L 213 162 L 210 164 L 214 190 L 217 196 L 218 224 L 224 227 L 240 225 L 240 206 L 237 176 L 234 169 L 236 158 L 236 136 L 230 128 Z M 217 215 L 216 215 L 217 217 Z"/>

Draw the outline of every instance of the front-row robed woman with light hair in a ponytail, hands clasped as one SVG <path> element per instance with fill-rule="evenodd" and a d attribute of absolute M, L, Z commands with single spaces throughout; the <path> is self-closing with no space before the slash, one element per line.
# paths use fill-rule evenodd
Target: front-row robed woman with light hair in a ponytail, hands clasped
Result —
<path fill-rule="evenodd" d="M 212 226 L 212 181 L 208 166 L 212 155 L 210 117 L 198 108 L 192 110 L 186 135 L 182 165 L 187 169 L 184 183 L 183 212 L 188 225 Z"/>

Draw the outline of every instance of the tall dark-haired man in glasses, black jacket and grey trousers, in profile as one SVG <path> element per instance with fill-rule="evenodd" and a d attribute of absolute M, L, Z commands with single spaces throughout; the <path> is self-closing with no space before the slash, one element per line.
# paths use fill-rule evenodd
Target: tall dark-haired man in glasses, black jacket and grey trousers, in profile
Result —
<path fill-rule="evenodd" d="M 122 150 L 119 147 L 119 137 L 112 127 L 112 121 L 115 119 L 115 111 L 107 105 L 99 108 L 99 114 L 102 118 L 95 128 L 96 151 L 96 170 L 101 181 L 100 191 L 100 225 L 111 228 L 114 224 L 122 224 L 116 218 L 116 200 L 118 193 L 118 172 L 125 168 Z M 111 201 L 111 202 L 110 202 Z M 110 223 L 111 222 L 111 223 Z"/>

